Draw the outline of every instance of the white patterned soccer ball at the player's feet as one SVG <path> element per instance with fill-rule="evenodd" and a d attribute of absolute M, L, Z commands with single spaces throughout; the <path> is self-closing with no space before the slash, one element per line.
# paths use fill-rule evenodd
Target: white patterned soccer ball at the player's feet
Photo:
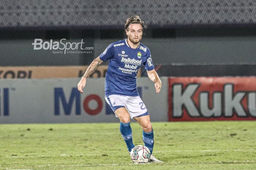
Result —
<path fill-rule="evenodd" d="M 131 159 L 134 163 L 148 163 L 150 151 L 146 146 L 135 146 L 131 151 Z"/>

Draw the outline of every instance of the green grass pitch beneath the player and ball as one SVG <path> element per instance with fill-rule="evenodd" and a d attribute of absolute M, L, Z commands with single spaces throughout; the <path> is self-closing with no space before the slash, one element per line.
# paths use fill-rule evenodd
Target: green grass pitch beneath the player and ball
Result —
<path fill-rule="evenodd" d="M 255 170 L 256 122 L 153 122 L 162 164 L 133 164 L 119 124 L 2 124 L 0 169 Z M 131 124 L 135 145 L 142 131 Z"/>

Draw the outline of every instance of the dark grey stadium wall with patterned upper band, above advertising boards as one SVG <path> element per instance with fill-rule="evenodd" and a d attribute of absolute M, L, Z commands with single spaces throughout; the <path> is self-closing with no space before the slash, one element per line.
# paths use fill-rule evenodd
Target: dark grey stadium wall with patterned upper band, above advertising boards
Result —
<path fill-rule="evenodd" d="M 88 65 L 108 44 L 126 38 L 125 19 L 136 14 L 147 24 L 142 43 L 160 76 L 254 76 L 255 8 L 245 0 L 1 0 L 0 66 Z M 94 50 L 35 52 L 35 38 L 84 39 Z"/>

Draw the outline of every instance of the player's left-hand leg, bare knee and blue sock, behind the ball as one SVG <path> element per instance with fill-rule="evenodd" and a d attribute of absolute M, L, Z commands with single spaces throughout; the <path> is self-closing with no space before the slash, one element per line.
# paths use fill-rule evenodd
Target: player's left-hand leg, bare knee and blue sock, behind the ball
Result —
<path fill-rule="evenodd" d="M 131 152 L 134 144 L 132 142 L 132 128 L 130 126 L 130 115 L 125 107 L 120 107 L 115 110 L 116 116 L 120 119 L 120 132 L 127 145 L 128 151 Z"/>

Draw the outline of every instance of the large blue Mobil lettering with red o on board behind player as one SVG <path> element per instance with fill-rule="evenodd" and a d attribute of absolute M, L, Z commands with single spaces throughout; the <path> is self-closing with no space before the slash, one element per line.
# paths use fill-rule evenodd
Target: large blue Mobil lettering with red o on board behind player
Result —
<path fill-rule="evenodd" d="M 142 87 L 138 87 L 138 92 L 142 97 Z M 69 98 L 67 98 L 68 95 Z M 103 99 L 103 96 L 101 97 L 98 94 L 89 94 L 82 101 L 83 110 L 91 116 L 98 115 L 102 112 L 103 101 L 105 101 L 105 99 Z M 93 106 L 91 106 L 91 103 L 93 103 Z M 60 115 L 61 108 L 63 108 L 65 115 L 71 115 L 72 108 L 74 106 L 75 114 L 81 115 L 81 93 L 77 90 L 76 87 L 73 87 L 71 88 L 71 90 L 65 92 L 62 87 L 54 88 L 54 115 Z M 114 114 L 113 110 L 106 103 L 106 101 L 105 111 L 105 114 Z"/>

